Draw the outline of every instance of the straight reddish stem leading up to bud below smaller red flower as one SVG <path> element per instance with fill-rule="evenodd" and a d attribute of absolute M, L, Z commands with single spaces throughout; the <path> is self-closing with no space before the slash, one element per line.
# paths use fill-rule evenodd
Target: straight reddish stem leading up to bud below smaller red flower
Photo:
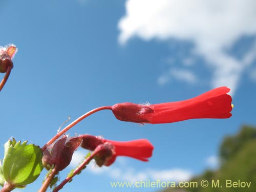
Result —
<path fill-rule="evenodd" d="M 102 148 L 100 148 L 99 150 L 97 150 L 97 148 L 95 149 L 95 151 L 86 159 L 84 160 L 73 172 L 72 176 L 67 177 L 65 180 L 63 180 L 58 186 L 56 186 L 54 188 L 54 190 L 52 192 L 57 192 L 59 191 L 66 183 L 68 183 L 75 175 L 77 175 L 78 173 L 81 172 L 82 169 L 84 169 L 84 167 L 86 167 L 86 165 L 88 163 L 90 163 L 90 161 L 95 157 L 95 155 L 97 155 L 100 151 L 102 150 Z"/>

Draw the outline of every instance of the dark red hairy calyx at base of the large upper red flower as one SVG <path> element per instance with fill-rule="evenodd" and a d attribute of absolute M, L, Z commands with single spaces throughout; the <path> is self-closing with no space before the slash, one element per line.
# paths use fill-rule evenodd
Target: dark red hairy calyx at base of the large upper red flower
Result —
<path fill-rule="evenodd" d="M 112 106 L 112 112 L 118 120 L 136 123 L 149 122 L 147 115 L 154 112 L 147 105 L 135 104 L 130 102 L 117 103 Z"/>

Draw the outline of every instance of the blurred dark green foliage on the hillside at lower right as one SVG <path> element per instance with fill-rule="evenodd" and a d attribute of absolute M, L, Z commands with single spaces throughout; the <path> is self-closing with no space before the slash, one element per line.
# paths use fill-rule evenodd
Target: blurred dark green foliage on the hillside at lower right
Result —
<path fill-rule="evenodd" d="M 224 139 L 220 147 L 220 168 L 215 171 L 206 170 L 200 176 L 194 177 L 191 181 L 197 181 L 197 188 L 182 188 L 182 191 L 189 192 L 252 192 L 256 191 L 256 127 L 242 126 L 241 131 L 234 136 Z M 217 182 L 220 187 L 202 188 L 202 180 Z M 250 187 L 226 187 L 226 182 L 245 181 Z M 222 186 L 222 187 L 221 187 Z M 228 184 L 229 186 L 229 184 Z M 165 192 L 178 192 L 177 189 L 165 189 Z"/>

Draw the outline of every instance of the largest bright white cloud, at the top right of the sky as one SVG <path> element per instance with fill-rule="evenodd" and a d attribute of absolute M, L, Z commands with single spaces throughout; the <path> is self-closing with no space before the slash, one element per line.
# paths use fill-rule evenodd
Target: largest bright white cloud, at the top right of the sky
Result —
<path fill-rule="evenodd" d="M 256 57 L 255 47 L 242 60 L 226 51 L 243 35 L 256 35 L 255 10 L 254 0 L 127 0 L 126 15 L 118 23 L 119 42 L 134 36 L 192 41 L 194 54 L 203 56 L 212 69 L 212 87 L 225 85 L 234 92 Z M 168 80 L 161 77 L 158 82 Z"/>

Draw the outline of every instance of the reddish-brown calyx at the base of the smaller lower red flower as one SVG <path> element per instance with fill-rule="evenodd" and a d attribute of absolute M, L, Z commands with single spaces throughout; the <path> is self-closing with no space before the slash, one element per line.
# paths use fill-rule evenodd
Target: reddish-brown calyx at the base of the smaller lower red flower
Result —
<path fill-rule="evenodd" d="M 85 148 L 86 150 L 94 151 L 98 145 L 103 144 L 101 139 L 92 135 L 86 134 L 80 135 L 79 137 L 82 138 L 81 147 Z"/>

